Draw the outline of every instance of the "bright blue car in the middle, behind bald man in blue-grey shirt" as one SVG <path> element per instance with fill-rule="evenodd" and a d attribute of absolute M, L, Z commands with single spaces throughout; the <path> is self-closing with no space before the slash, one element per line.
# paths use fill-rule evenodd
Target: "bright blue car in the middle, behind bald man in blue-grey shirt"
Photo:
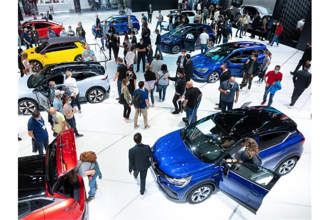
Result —
<path fill-rule="evenodd" d="M 258 61 L 262 63 L 265 58 L 264 52 L 267 50 L 266 45 L 248 41 L 221 44 L 208 50 L 205 54 L 192 56 L 191 60 L 194 63 L 192 79 L 209 83 L 216 82 L 222 74 L 220 66 L 223 63 L 227 65 L 227 69 L 231 70 L 233 77 L 242 78 L 243 64 L 252 55 L 254 49 L 258 50 Z"/>

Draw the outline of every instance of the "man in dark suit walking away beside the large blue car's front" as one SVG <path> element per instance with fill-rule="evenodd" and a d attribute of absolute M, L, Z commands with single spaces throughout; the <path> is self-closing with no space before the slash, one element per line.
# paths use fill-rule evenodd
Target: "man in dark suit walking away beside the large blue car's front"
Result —
<path fill-rule="evenodd" d="M 151 166 L 149 158 L 152 158 L 152 151 L 149 145 L 142 144 L 142 136 L 140 133 L 136 133 L 133 137 L 136 145 L 129 149 L 128 151 L 128 160 L 129 160 L 129 174 L 133 176 L 135 180 L 138 180 L 138 175 L 140 173 L 140 194 L 143 199 L 145 189 L 146 189 L 146 177 L 148 168 Z"/>

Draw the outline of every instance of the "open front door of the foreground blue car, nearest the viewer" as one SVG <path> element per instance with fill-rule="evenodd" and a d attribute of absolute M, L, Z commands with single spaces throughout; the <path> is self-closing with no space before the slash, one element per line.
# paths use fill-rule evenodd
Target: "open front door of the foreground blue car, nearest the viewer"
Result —
<path fill-rule="evenodd" d="M 254 164 L 223 163 L 219 169 L 220 190 L 254 214 L 281 177 Z"/>

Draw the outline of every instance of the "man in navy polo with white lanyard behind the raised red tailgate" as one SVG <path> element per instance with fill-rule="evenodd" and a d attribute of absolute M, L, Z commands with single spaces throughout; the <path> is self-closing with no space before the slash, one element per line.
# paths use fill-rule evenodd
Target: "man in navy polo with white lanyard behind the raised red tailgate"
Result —
<path fill-rule="evenodd" d="M 32 138 L 32 142 L 38 146 L 39 154 L 44 154 L 48 146 L 48 132 L 45 126 L 45 121 L 41 117 L 40 112 L 35 110 L 27 123 L 27 134 Z"/>

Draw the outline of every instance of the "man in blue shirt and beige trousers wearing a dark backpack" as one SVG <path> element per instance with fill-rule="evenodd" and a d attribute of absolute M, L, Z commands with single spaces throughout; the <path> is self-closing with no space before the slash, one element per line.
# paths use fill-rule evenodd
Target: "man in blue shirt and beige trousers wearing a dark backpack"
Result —
<path fill-rule="evenodd" d="M 134 108 L 135 108 L 135 115 L 134 115 L 134 129 L 137 129 L 138 127 L 140 127 L 140 125 L 138 125 L 138 116 L 139 114 L 143 116 L 143 122 L 145 125 L 145 129 L 150 128 L 150 125 L 148 125 L 148 109 L 149 109 L 149 100 L 148 100 L 148 93 L 146 93 L 144 91 L 144 81 L 140 81 L 139 82 L 139 89 L 134 90 L 133 92 L 133 103 L 134 103 Z M 136 93 L 138 93 L 137 95 L 135 95 Z M 137 108 L 135 106 L 135 100 L 137 100 L 137 97 L 139 96 L 139 94 L 141 95 L 141 100 L 138 100 L 138 102 L 141 102 L 141 108 Z"/>

